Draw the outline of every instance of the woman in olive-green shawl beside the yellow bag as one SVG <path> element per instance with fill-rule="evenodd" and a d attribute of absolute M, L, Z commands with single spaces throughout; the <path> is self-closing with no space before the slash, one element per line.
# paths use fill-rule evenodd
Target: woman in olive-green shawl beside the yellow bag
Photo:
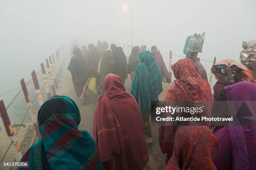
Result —
<path fill-rule="evenodd" d="M 103 90 L 104 79 L 108 73 L 115 74 L 115 62 L 110 48 L 104 51 L 100 59 L 100 88 Z"/>

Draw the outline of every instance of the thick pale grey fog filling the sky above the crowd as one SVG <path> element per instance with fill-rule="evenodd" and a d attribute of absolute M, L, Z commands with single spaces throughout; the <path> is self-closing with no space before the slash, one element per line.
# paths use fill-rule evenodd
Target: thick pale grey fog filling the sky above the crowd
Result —
<path fill-rule="evenodd" d="M 33 69 L 74 38 L 80 45 L 130 44 L 131 13 L 124 5 L 132 10 L 133 45 L 183 55 L 187 36 L 206 32 L 201 59 L 239 60 L 241 43 L 256 38 L 255 0 L 1 0 L 0 94 L 19 87 L 22 77 L 29 80 Z M 209 73 L 211 63 L 202 64 Z"/>

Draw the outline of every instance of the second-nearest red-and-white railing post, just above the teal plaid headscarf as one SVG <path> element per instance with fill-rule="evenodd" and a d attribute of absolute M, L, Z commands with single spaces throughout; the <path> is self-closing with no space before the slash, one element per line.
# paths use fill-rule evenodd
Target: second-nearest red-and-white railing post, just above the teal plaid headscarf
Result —
<path fill-rule="evenodd" d="M 21 84 L 21 87 L 22 87 L 22 90 L 23 90 L 23 93 L 24 93 L 24 96 L 25 96 L 25 100 L 26 100 L 27 105 L 28 105 L 28 111 L 29 111 L 31 120 L 32 120 L 33 125 L 34 125 L 35 130 L 36 130 L 36 135 L 39 139 L 39 138 L 41 138 L 41 135 L 40 135 L 39 129 L 38 129 L 38 123 L 37 123 L 37 119 L 36 119 L 36 112 L 35 112 L 35 109 L 32 105 L 31 97 L 28 94 L 28 89 L 26 87 L 26 83 L 25 83 L 24 78 L 20 80 L 20 84 Z"/>

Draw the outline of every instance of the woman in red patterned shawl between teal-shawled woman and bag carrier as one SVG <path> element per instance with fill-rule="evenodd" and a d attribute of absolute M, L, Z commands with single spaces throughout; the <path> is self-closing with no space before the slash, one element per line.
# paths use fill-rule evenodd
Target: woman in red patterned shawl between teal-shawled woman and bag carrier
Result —
<path fill-rule="evenodd" d="M 188 58 L 181 59 L 172 65 L 174 85 L 168 90 L 165 101 L 212 101 L 211 88 L 203 80 L 194 62 Z M 207 104 L 207 103 L 205 103 Z M 211 108 L 204 107 L 200 115 L 209 117 Z M 207 125 L 210 127 L 210 124 Z M 159 145 L 167 160 L 172 156 L 174 126 L 159 125 Z"/>

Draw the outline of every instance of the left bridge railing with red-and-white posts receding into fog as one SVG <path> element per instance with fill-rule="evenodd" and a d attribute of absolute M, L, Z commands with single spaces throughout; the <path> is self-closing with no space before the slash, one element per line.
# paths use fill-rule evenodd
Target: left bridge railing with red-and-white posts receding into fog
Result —
<path fill-rule="evenodd" d="M 18 92 L 8 105 L 0 100 L 0 116 L 3 120 L 0 127 L 5 128 L 0 130 L 0 164 L 10 160 L 19 161 L 24 154 L 22 151 L 26 152 L 40 138 L 37 112 L 45 100 L 56 94 L 63 56 L 64 47 L 61 47 L 55 55 L 52 54 L 45 63 L 41 63 L 41 70 L 31 72 L 30 80 L 26 82 L 22 78 L 20 88 L 10 90 Z"/>

